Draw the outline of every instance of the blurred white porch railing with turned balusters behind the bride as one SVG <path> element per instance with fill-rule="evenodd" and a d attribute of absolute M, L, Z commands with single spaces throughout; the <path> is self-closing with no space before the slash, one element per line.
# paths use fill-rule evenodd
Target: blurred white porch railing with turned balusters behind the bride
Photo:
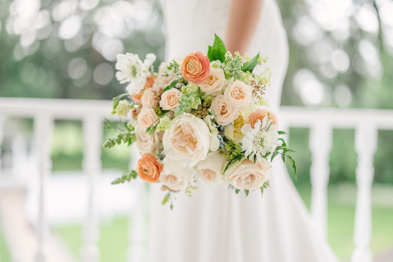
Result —
<path fill-rule="evenodd" d="M 99 239 L 99 220 L 97 215 L 97 176 L 101 172 L 101 146 L 103 143 L 103 117 L 115 119 L 109 115 L 110 101 L 73 100 L 73 99 L 29 99 L 0 98 L 0 145 L 3 140 L 3 123 L 6 117 L 27 117 L 34 121 L 34 141 L 39 174 L 39 213 L 37 219 L 36 262 L 48 261 L 45 239 L 48 236 L 45 206 L 45 182 L 51 173 L 50 137 L 53 121 L 57 119 L 80 120 L 83 123 L 84 158 L 83 171 L 89 182 L 88 210 L 83 233 L 83 261 L 99 260 L 97 242 Z M 326 237 L 327 231 L 327 185 L 329 182 L 329 153 L 332 147 L 333 128 L 351 128 L 355 130 L 355 150 L 358 155 L 356 167 L 356 213 L 354 226 L 355 249 L 352 262 L 371 262 L 371 185 L 373 183 L 373 155 L 376 151 L 378 130 L 393 130 L 393 110 L 376 109 L 339 109 L 320 108 L 310 110 L 303 107 L 283 107 L 280 113 L 281 128 L 310 128 L 309 146 L 312 153 L 311 176 L 311 213 L 320 233 Z M 0 150 L 1 156 L 1 150 Z M 1 175 L 0 190 L 4 187 Z M 143 187 L 139 187 L 143 190 Z M 135 210 L 136 209 L 136 210 Z M 138 212 L 139 211 L 139 212 Z M 134 219 L 143 222 L 143 204 L 134 207 Z M 133 223 L 134 225 L 136 223 Z M 139 226 L 139 228 L 141 228 Z M 142 233 L 138 227 L 131 228 L 131 243 L 141 241 Z M 139 250 L 130 247 L 127 252 L 130 261 L 134 257 L 143 257 Z M 33 261 L 33 260 L 31 260 Z M 18 261 L 16 261 L 18 262 Z"/>

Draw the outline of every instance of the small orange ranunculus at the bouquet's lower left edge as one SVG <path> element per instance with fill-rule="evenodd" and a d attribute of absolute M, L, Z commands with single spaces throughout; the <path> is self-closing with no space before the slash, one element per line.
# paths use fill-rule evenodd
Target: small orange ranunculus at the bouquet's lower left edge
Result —
<path fill-rule="evenodd" d="M 136 172 L 138 176 L 145 182 L 154 183 L 160 178 L 162 167 L 157 159 L 149 153 L 145 153 L 138 160 Z"/>

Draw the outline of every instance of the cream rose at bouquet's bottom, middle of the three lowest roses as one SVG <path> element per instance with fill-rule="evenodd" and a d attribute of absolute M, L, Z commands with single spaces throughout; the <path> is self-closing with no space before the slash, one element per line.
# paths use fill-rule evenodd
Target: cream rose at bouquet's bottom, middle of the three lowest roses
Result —
<path fill-rule="evenodd" d="M 217 187 L 223 185 L 225 182 L 222 178 L 221 170 L 227 162 L 220 150 L 209 153 L 206 159 L 198 163 L 196 167 L 198 179 L 208 185 Z"/>

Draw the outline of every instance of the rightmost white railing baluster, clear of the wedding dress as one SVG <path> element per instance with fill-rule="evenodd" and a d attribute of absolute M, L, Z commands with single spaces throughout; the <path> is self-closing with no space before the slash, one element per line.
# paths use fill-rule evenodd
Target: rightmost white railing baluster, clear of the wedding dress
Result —
<path fill-rule="evenodd" d="M 371 242 L 371 185 L 374 179 L 374 154 L 377 147 L 378 130 L 364 121 L 355 130 L 356 185 L 358 192 L 355 207 L 354 244 L 351 262 L 372 262 Z"/>

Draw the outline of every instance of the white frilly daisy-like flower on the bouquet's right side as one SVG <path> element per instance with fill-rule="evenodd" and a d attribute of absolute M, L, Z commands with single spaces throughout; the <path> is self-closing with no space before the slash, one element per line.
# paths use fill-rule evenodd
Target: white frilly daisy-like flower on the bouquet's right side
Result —
<path fill-rule="evenodd" d="M 262 161 L 263 156 L 267 152 L 281 145 L 278 140 L 277 127 L 270 125 L 271 123 L 272 121 L 266 115 L 262 122 L 259 119 L 255 122 L 254 128 L 250 124 L 246 124 L 241 128 L 241 132 L 244 134 L 242 146 L 246 150 L 244 154 L 246 157 L 250 156 L 253 158 L 256 155 L 257 161 Z"/>

